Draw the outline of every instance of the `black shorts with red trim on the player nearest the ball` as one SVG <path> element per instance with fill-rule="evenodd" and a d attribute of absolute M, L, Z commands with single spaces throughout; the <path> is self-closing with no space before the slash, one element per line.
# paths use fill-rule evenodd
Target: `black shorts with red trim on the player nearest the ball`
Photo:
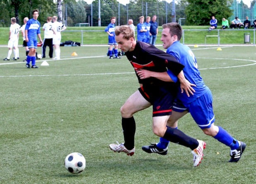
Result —
<path fill-rule="evenodd" d="M 145 90 L 143 87 L 138 89 L 141 95 L 153 105 L 153 117 L 171 115 L 171 109 L 176 98 L 177 88 L 161 86 L 154 90 Z"/>

